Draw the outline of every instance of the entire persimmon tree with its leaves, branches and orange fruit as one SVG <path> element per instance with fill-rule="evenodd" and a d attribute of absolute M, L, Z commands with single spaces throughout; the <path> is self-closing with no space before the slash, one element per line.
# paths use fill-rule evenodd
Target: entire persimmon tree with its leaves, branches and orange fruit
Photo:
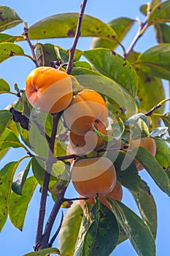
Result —
<path fill-rule="evenodd" d="M 157 209 L 139 170 L 145 169 L 170 195 L 170 112 L 164 112 L 169 99 L 162 82 L 170 80 L 170 2 L 142 5 L 144 20 L 120 17 L 109 23 L 85 14 L 86 4 L 82 1 L 80 13 L 56 14 L 32 26 L 15 10 L 0 6 L 1 63 L 24 56 L 35 65 L 26 89 L 19 88 L 17 80 L 13 88 L 0 78 L 0 94 L 16 97 L 0 110 L 0 157 L 9 148 L 26 152 L 0 170 L 0 230 L 7 217 L 23 229 L 38 186 L 34 252 L 26 255 L 107 256 L 129 239 L 138 255 L 153 256 Z M 19 23 L 20 36 L 5 34 Z M 126 49 L 122 40 L 134 23 L 139 23 L 139 31 Z M 134 45 L 150 26 L 158 44 L 135 52 Z M 74 37 L 69 50 L 41 42 L 59 37 Z M 77 49 L 80 37 L 92 37 L 90 50 Z M 38 40 L 35 45 L 33 39 Z M 31 55 L 18 45 L 23 41 Z M 122 54 L 117 53 L 118 46 Z M 27 165 L 18 172 L 24 159 Z M 76 198 L 65 197 L 71 183 Z M 134 196 L 141 217 L 121 202 L 123 187 Z M 48 195 L 54 203 L 45 223 Z M 61 208 L 68 210 L 59 219 Z M 58 230 L 53 233 L 55 221 Z"/>

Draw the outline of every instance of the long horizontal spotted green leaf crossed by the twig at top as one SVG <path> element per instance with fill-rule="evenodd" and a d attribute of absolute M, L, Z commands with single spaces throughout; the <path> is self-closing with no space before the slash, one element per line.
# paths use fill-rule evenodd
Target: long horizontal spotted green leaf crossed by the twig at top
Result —
<path fill-rule="evenodd" d="M 28 29 L 30 39 L 74 37 L 79 13 L 61 13 L 39 20 Z M 97 18 L 83 15 L 81 37 L 115 38 L 115 31 Z"/>

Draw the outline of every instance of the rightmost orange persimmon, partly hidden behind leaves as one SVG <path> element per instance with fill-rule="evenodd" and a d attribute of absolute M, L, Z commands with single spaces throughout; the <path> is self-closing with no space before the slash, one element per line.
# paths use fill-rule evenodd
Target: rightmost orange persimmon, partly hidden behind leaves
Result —
<path fill-rule="evenodd" d="M 148 137 L 148 138 L 142 138 L 140 140 L 133 140 L 131 141 L 128 149 L 130 150 L 133 150 L 134 148 L 138 148 L 138 147 L 143 147 L 143 148 L 146 148 L 147 151 L 150 151 L 150 153 L 152 154 L 153 157 L 155 157 L 155 154 L 156 154 L 156 143 L 155 143 L 155 140 Z M 136 165 L 136 168 L 137 170 L 143 170 L 144 167 L 136 161 L 136 159 L 134 160 L 135 162 L 135 165 Z"/>

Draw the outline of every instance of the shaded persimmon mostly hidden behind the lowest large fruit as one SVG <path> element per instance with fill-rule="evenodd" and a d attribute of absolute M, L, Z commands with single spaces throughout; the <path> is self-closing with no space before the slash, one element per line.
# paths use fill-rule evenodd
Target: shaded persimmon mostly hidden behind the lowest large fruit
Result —
<path fill-rule="evenodd" d="M 79 195 L 79 197 L 81 198 L 82 195 Z M 122 186 L 116 182 L 115 184 L 115 187 L 114 189 L 109 192 L 107 194 L 107 197 L 111 197 L 111 198 L 114 198 L 116 200 L 119 200 L 121 201 L 122 200 L 122 197 L 123 197 L 123 189 L 122 189 Z M 101 201 L 101 203 L 104 204 L 104 206 L 107 206 L 110 210 L 112 210 L 111 206 L 109 205 L 109 203 L 107 202 L 107 198 L 105 197 L 105 195 L 99 195 L 99 200 Z M 95 198 L 92 197 L 92 198 L 88 198 L 86 200 L 86 202 L 90 203 L 90 204 L 94 204 L 95 203 Z M 80 200 L 80 206 L 83 208 L 85 206 L 85 200 Z"/>

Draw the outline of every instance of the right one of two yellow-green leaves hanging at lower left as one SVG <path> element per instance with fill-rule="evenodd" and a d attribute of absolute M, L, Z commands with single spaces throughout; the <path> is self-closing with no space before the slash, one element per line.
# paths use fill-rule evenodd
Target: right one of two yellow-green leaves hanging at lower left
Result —
<path fill-rule="evenodd" d="M 9 218 L 12 224 L 19 230 L 23 230 L 23 223 L 26 217 L 28 203 L 36 188 L 37 181 L 34 176 L 28 177 L 23 186 L 22 195 L 12 192 L 9 201 Z"/>

